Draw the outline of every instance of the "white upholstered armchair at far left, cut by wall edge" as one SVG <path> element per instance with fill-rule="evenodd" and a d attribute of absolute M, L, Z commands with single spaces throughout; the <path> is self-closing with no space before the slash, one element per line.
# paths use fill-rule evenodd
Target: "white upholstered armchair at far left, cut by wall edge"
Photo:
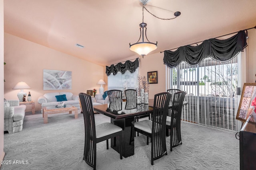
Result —
<path fill-rule="evenodd" d="M 19 100 L 4 100 L 4 131 L 22 131 L 25 109 L 26 105 L 20 105 Z"/>

